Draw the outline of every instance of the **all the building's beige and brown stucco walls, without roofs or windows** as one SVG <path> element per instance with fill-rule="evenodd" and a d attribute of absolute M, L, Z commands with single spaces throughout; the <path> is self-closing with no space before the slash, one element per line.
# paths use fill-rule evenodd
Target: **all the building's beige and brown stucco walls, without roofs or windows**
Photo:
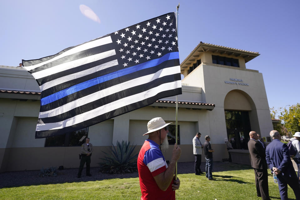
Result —
<path fill-rule="evenodd" d="M 0 68 L 0 83 L 3 88 L 16 90 L 39 90 L 31 75 L 14 67 Z M 8 78 L 10 77 L 10 78 Z M 230 78 L 242 79 L 249 86 L 226 84 Z M 1 82 L 2 81 L 2 82 Z M 10 85 L 10 83 L 13 83 Z M 180 125 L 180 147 L 182 156 L 179 162 L 194 161 L 192 154 L 192 138 L 196 132 L 202 133 L 200 138 L 204 143 L 204 136 L 211 136 L 214 148 L 214 160 L 228 158 L 226 145 L 227 137 L 224 100 L 230 91 L 242 92 L 244 97 L 250 97 L 252 111 L 249 111 L 251 127 L 266 137 L 272 122 L 267 103 L 262 74 L 232 67 L 217 67 L 207 64 L 199 65 L 192 73 L 183 79 L 183 95 L 178 96 L 179 101 L 196 101 L 214 103 L 212 111 L 206 109 L 193 110 L 178 109 L 178 125 Z M 34 139 L 35 127 L 40 108 L 40 101 L 30 99 L 32 95 L 18 95 L 0 98 L 0 171 L 31 170 L 42 167 L 60 166 L 77 168 L 79 165 L 78 154 L 80 147 L 44 147 L 45 139 Z M 248 95 L 248 96 L 247 96 Z M 11 98 L 10 98 L 11 97 Z M 17 98 L 28 99 L 20 101 Z M 248 98 L 249 98 L 248 97 Z M 15 98 L 15 99 L 12 99 Z M 175 100 L 175 97 L 168 99 Z M 255 108 L 255 109 L 253 109 Z M 147 122 L 155 117 L 162 117 L 166 122 L 175 123 L 175 108 L 147 106 L 130 113 L 118 116 L 111 120 L 89 127 L 88 136 L 95 147 L 91 166 L 98 166 L 102 151 L 117 140 L 129 140 L 141 147 L 147 136 Z M 170 146 L 166 159 L 171 159 L 172 147 Z M 204 156 L 202 156 L 204 161 Z M 9 167 L 8 167 L 9 166 Z"/>

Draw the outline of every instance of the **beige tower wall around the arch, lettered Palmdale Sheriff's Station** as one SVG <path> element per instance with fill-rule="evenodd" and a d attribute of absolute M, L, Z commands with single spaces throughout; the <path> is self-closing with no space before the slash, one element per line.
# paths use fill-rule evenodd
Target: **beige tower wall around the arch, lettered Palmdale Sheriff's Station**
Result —
<path fill-rule="evenodd" d="M 230 78 L 242 81 L 233 81 Z M 225 81 L 235 82 L 235 84 L 227 84 Z M 253 103 L 252 111 L 249 113 L 252 130 L 261 133 L 262 137 L 266 137 L 272 130 L 262 73 L 202 63 L 187 75 L 182 82 L 190 86 L 201 87 L 203 90 L 202 99 L 205 99 L 207 103 L 216 104 L 214 110 L 209 113 L 210 133 L 221 136 L 222 140 L 212 141 L 213 143 L 223 143 L 224 138 L 227 137 L 224 123 L 224 100 L 232 90 L 241 91 L 245 94 L 244 96 L 249 97 L 248 101 Z M 249 86 L 240 83 L 247 83 Z M 215 126 L 215 124 L 218 124 L 218 126 Z"/>

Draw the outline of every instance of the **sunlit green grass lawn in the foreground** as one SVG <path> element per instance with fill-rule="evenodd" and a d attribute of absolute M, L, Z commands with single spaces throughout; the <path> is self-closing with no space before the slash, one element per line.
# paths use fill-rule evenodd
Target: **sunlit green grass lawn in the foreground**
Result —
<path fill-rule="evenodd" d="M 181 185 L 176 191 L 178 200 L 261 200 L 256 196 L 254 171 L 247 166 L 238 165 L 240 170 L 213 172 L 215 181 L 208 181 L 205 175 L 179 174 Z M 238 167 L 237 166 L 237 167 Z M 270 173 L 270 171 L 269 171 Z M 271 199 L 280 199 L 278 185 L 268 177 Z M 102 181 L 32 185 L 0 189 L 0 199 L 5 200 L 93 200 L 122 199 L 139 200 L 141 197 L 138 178 L 108 179 Z M 288 187 L 288 197 L 295 195 Z"/>

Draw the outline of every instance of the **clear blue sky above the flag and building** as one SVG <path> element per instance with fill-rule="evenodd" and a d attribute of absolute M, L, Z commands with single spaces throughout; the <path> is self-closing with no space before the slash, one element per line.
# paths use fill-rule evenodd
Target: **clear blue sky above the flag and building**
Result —
<path fill-rule="evenodd" d="M 0 65 L 50 56 L 179 8 L 180 62 L 202 42 L 259 52 L 246 68 L 263 74 L 269 107 L 300 103 L 300 1 L 41 1 L 0 2 Z M 101 23 L 85 17 L 85 4 Z M 213 102 L 209 102 L 213 103 Z"/>

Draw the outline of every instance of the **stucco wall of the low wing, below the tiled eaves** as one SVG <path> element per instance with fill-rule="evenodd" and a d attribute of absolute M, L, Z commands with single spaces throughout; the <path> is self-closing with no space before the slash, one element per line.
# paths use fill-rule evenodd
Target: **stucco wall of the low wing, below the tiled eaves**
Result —
<path fill-rule="evenodd" d="M 78 167 L 80 147 L 44 147 L 45 138 L 35 139 L 40 106 L 38 100 L 20 101 L 0 98 L 0 106 L 4 112 L 1 117 L 1 133 L 2 138 L 5 138 L 1 140 L 0 148 L 1 172 L 35 170 L 60 165 L 66 168 Z M 199 131 L 203 135 L 210 134 L 208 116 L 212 112 L 214 111 L 179 108 L 178 125 L 180 125 L 180 143 L 183 150 L 179 162 L 194 160 L 192 138 Z M 91 166 L 98 166 L 97 163 L 101 161 L 99 158 L 104 155 L 102 151 L 107 151 L 113 143 L 113 135 L 119 141 L 127 137 L 126 140 L 138 145 L 138 150 L 148 138 L 143 136 L 143 133 L 147 132 L 147 123 L 154 117 L 163 117 L 166 122 L 175 124 L 175 108 L 148 106 L 122 115 L 119 120 L 127 122 L 125 125 L 128 126 L 128 130 L 124 129 L 116 118 L 89 127 L 88 137 L 91 138 L 91 143 L 95 147 Z M 118 128 L 118 134 L 116 128 Z M 204 143 L 204 137 L 200 139 Z M 217 139 L 213 140 L 217 141 Z M 170 153 L 172 153 L 172 148 L 173 145 L 170 146 Z M 226 158 L 226 151 L 220 151 L 215 160 L 222 158 Z"/>

